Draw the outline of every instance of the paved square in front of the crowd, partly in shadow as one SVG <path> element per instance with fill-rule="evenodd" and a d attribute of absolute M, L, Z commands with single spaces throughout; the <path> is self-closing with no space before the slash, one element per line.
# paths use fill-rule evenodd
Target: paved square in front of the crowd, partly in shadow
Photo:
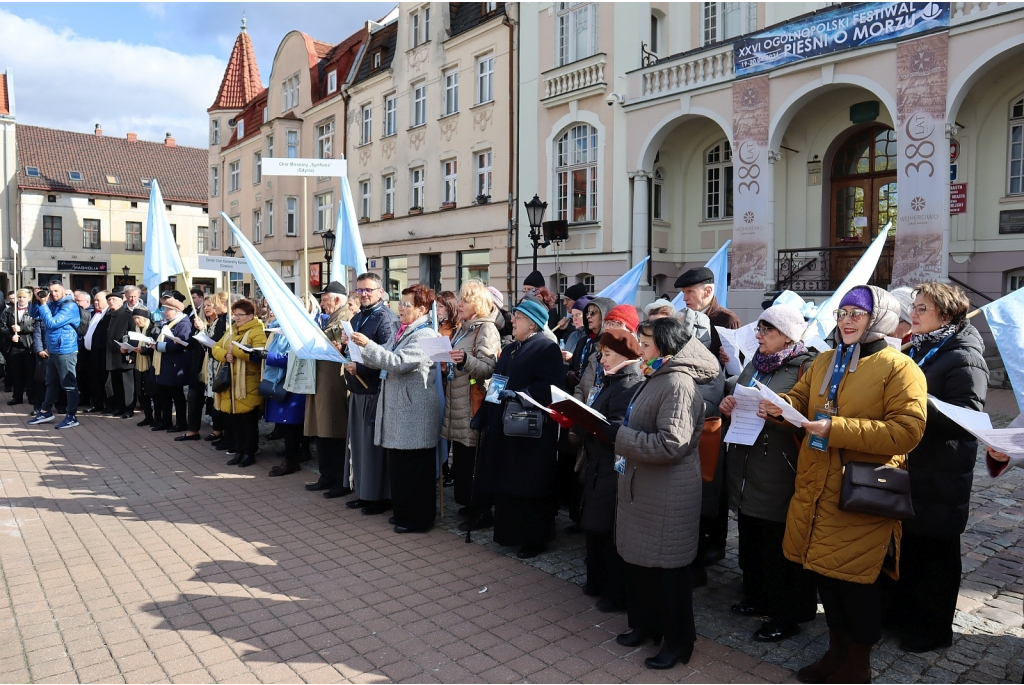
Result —
<path fill-rule="evenodd" d="M 1014 406 L 993 391 L 993 419 Z M 695 592 L 693 658 L 650 672 L 649 648 L 613 640 L 624 616 L 580 592 L 564 518 L 523 563 L 488 531 L 453 534 L 450 488 L 438 528 L 399 537 L 304 490 L 308 474 L 266 478 L 272 459 L 238 470 L 129 422 L 25 420 L 0 414 L 0 682 L 792 682 L 825 647 L 822 615 L 782 644 L 750 640 L 757 620 L 728 611 L 734 529 Z M 886 636 L 877 682 L 1021 681 L 1022 482 L 979 468 L 954 644 L 908 655 Z"/>

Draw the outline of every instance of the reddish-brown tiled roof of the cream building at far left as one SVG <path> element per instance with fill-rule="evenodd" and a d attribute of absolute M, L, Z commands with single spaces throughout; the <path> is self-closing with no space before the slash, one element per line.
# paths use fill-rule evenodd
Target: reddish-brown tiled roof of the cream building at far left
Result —
<path fill-rule="evenodd" d="M 202 147 L 169 147 L 162 142 L 38 126 L 18 126 L 15 135 L 20 188 L 144 200 L 150 189 L 142 185 L 142 179 L 156 178 L 167 202 L 208 202 L 209 156 Z M 27 175 L 26 167 L 38 167 L 40 175 Z M 69 171 L 81 172 L 82 180 L 72 181 Z M 119 182 L 108 183 L 108 174 L 117 176 Z"/>

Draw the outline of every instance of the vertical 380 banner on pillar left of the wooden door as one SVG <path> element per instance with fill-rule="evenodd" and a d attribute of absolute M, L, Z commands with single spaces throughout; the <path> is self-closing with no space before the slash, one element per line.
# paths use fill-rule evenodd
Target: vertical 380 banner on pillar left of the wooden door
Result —
<path fill-rule="evenodd" d="M 730 290 L 764 290 L 768 275 L 768 77 L 732 84 Z"/>

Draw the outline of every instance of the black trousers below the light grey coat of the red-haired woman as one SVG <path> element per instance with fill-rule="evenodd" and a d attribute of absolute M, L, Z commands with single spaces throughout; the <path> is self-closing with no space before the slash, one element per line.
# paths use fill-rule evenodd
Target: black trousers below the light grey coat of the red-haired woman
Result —
<path fill-rule="evenodd" d="M 395 524 L 426 530 L 437 515 L 436 449 L 388 449 L 387 457 Z"/>

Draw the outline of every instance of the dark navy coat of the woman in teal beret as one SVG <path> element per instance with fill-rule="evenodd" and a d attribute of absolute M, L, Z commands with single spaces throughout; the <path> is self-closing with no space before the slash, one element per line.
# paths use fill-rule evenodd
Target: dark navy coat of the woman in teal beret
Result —
<path fill-rule="evenodd" d="M 506 345 L 495 374 L 509 379 L 506 390 L 523 391 L 547 406 L 551 403 L 551 386 L 562 387 L 565 367 L 558 344 L 538 333 L 523 342 L 516 340 Z M 502 423 L 507 403 L 507 400 L 500 404 L 484 401 L 480 408 L 482 442 L 476 491 L 521 498 L 554 495 L 558 425 L 545 418 L 541 437 L 508 437 Z"/>

